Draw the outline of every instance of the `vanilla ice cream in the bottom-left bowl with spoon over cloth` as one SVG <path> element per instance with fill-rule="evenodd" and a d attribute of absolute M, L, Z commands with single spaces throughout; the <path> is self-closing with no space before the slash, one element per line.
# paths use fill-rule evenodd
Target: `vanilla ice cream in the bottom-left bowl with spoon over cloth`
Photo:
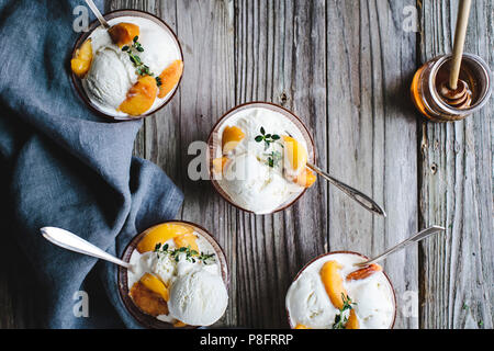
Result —
<path fill-rule="evenodd" d="M 194 235 L 200 252 L 215 253 L 213 246 L 204 237 L 198 233 Z M 166 245 L 169 250 L 177 248 L 173 239 Z M 127 271 L 128 290 L 145 273 L 154 274 L 169 290 L 169 314 L 157 316 L 157 319 L 170 324 L 181 321 L 190 326 L 213 325 L 224 315 L 228 305 L 222 269 L 216 256 L 206 262 L 199 259 L 194 261 L 187 260 L 186 253 L 180 253 L 176 260 L 170 254 L 158 254 L 155 251 L 141 254 L 134 250 L 130 262 L 135 269 L 134 272 Z"/>

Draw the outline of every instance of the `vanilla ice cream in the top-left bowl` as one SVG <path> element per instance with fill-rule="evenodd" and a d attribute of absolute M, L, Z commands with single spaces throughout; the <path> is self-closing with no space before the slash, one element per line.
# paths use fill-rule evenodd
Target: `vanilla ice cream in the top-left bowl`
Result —
<path fill-rule="evenodd" d="M 157 23 L 138 16 L 121 16 L 109 21 L 110 25 L 127 22 L 139 26 L 138 42 L 144 52 L 139 58 L 149 70 L 159 76 L 161 71 L 177 59 L 182 59 L 176 38 Z M 91 35 L 93 58 L 91 68 L 82 79 L 82 87 L 91 103 L 101 112 L 114 117 L 126 117 L 117 111 L 128 90 L 137 82 L 139 76 L 130 60 L 127 53 L 115 45 L 108 31 L 96 29 Z M 175 90 L 165 98 L 156 98 L 149 111 L 162 105 Z M 148 111 L 148 112 L 149 112 Z"/>

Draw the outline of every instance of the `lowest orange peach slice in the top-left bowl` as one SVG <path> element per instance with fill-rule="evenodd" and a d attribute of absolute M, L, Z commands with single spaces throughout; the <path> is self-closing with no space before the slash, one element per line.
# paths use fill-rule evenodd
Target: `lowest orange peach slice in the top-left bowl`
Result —
<path fill-rule="evenodd" d="M 131 116 L 142 115 L 153 106 L 157 91 L 156 79 L 150 76 L 141 77 L 128 90 L 127 98 L 119 110 Z"/>

